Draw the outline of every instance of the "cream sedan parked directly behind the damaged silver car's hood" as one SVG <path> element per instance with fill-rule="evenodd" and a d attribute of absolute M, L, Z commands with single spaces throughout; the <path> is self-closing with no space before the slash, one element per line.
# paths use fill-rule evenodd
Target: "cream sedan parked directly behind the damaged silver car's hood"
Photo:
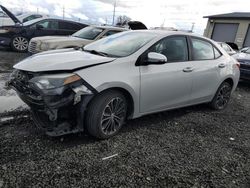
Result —
<path fill-rule="evenodd" d="M 89 26 L 71 36 L 45 36 L 30 40 L 28 51 L 32 54 L 62 48 L 83 47 L 101 38 L 126 31 L 128 29 L 112 26 Z"/>

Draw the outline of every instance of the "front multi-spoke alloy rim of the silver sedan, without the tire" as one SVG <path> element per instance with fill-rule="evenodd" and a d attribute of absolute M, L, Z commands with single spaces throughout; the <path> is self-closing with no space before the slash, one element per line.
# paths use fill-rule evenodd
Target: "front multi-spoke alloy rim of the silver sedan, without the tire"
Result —
<path fill-rule="evenodd" d="M 101 117 L 101 129 L 104 134 L 112 135 L 117 132 L 126 117 L 126 106 L 123 99 L 113 98 L 104 108 Z"/>

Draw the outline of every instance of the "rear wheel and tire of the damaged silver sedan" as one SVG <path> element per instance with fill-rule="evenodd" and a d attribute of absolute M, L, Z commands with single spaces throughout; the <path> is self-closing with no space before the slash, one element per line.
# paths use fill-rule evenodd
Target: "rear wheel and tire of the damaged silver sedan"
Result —
<path fill-rule="evenodd" d="M 232 86 L 228 82 L 223 82 L 218 88 L 210 106 L 215 110 L 223 110 L 230 101 Z"/>

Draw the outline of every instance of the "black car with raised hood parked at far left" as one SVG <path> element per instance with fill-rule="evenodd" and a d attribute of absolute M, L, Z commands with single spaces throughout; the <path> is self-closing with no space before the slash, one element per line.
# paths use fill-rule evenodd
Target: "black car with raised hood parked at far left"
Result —
<path fill-rule="evenodd" d="M 0 27 L 0 46 L 11 47 L 14 51 L 26 52 L 29 40 L 38 36 L 71 35 L 88 26 L 68 20 L 40 18 L 25 23 L 1 6 L 2 10 L 15 22 L 12 26 Z"/>

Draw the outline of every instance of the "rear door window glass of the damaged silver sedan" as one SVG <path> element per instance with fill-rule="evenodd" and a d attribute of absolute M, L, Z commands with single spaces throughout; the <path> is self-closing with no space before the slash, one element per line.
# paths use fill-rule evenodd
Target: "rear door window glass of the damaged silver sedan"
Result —
<path fill-rule="evenodd" d="M 191 38 L 191 41 L 193 47 L 193 60 L 214 59 L 214 50 L 211 43 L 195 38 Z"/>

